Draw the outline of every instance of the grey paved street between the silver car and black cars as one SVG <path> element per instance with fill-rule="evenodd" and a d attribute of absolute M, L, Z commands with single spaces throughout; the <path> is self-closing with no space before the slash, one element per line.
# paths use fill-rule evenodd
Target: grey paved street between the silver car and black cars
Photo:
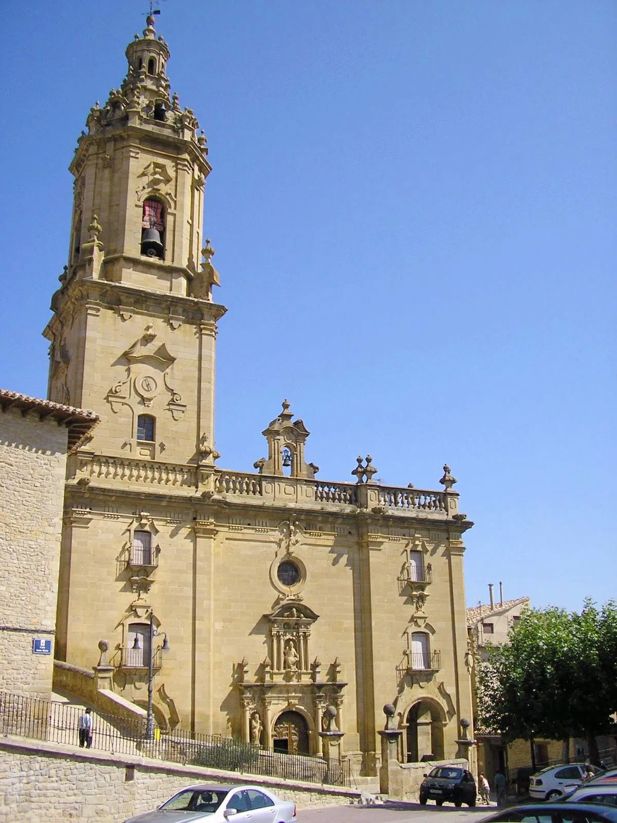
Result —
<path fill-rule="evenodd" d="M 299 811 L 299 823 L 480 823 L 497 811 L 496 806 L 457 809 L 434 804 L 388 801 L 383 806 L 331 806 Z M 438 817 L 443 821 L 438 821 Z"/>

